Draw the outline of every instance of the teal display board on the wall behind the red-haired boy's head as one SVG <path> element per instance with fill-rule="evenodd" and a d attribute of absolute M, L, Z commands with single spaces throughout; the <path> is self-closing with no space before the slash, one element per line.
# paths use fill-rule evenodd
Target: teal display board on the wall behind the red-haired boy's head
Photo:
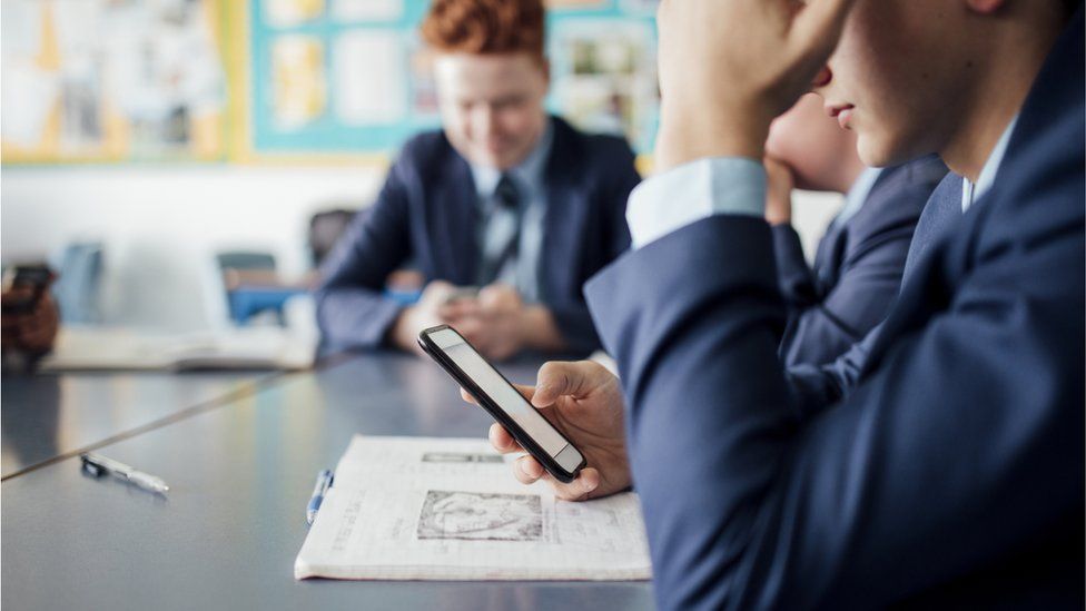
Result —
<path fill-rule="evenodd" d="M 653 0 L 563 0 L 547 11 L 549 108 L 652 146 L 659 117 Z M 257 155 L 389 154 L 438 126 L 426 0 L 249 0 Z"/>

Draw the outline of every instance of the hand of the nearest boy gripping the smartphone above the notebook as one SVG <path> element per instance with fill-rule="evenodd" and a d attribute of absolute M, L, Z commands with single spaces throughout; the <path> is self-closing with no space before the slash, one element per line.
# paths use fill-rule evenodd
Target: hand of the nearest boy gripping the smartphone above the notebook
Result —
<path fill-rule="evenodd" d="M 586 501 L 630 487 L 624 407 L 619 378 L 592 361 L 551 362 L 540 368 L 536 385 L 517 386 L 546 420 L 584 454 L 588 466 L 576 479 L 559 482 L 525 454 L 513 463 L 513 475 L 524 484 L 546 481 L 559 499 Z M 475 403 L 461 390 L 464 401 Z M 505 428 L 491 425 L 491 444 L 502 454 L 524 452 Z"/>

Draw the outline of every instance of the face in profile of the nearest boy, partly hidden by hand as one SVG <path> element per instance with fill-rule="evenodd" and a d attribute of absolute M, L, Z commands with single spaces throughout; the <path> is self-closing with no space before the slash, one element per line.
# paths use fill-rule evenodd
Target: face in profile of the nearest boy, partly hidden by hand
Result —
<path fill-rule="evenodd" d="M 976 58 L 964 2 L 859 0 L 817 89 L 857 135 L 860 159 L 888 166 L 942 150 L 966 109 Z M 971 63 L 970 63 L 971 62 Z"/>

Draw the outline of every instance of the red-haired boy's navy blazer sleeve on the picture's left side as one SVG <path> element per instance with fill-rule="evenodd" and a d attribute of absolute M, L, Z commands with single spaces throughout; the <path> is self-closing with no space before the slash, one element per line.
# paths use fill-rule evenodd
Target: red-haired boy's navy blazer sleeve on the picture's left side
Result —
<path fill-rule="evenodd" d="M 322 268 L 317 324 L 329 348 L 381 346 L 399 315 L 402 306 L 383 290 L 411 254 L 406 158 L 393 165 L 377 200 L 355 216 Z"/>

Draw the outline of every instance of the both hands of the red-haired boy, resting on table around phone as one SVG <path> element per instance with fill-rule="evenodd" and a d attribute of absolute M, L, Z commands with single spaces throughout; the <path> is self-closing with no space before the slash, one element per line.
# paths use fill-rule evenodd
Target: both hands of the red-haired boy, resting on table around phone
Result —
<path fill-rule="evenodd" d="M 550 311 L 525 304 L 515 288 L 483 287 L 475 297 L 458 296 L 462 289 L 442 280 L 426 285 L 418 303 L 405 308 L 393 328 L 395 343 L 419 352 L 416 336 L 434 325 L 452 325 L 478 351 L 495 361 L 524 348 L 559 351 L 562 335 Z"/>

